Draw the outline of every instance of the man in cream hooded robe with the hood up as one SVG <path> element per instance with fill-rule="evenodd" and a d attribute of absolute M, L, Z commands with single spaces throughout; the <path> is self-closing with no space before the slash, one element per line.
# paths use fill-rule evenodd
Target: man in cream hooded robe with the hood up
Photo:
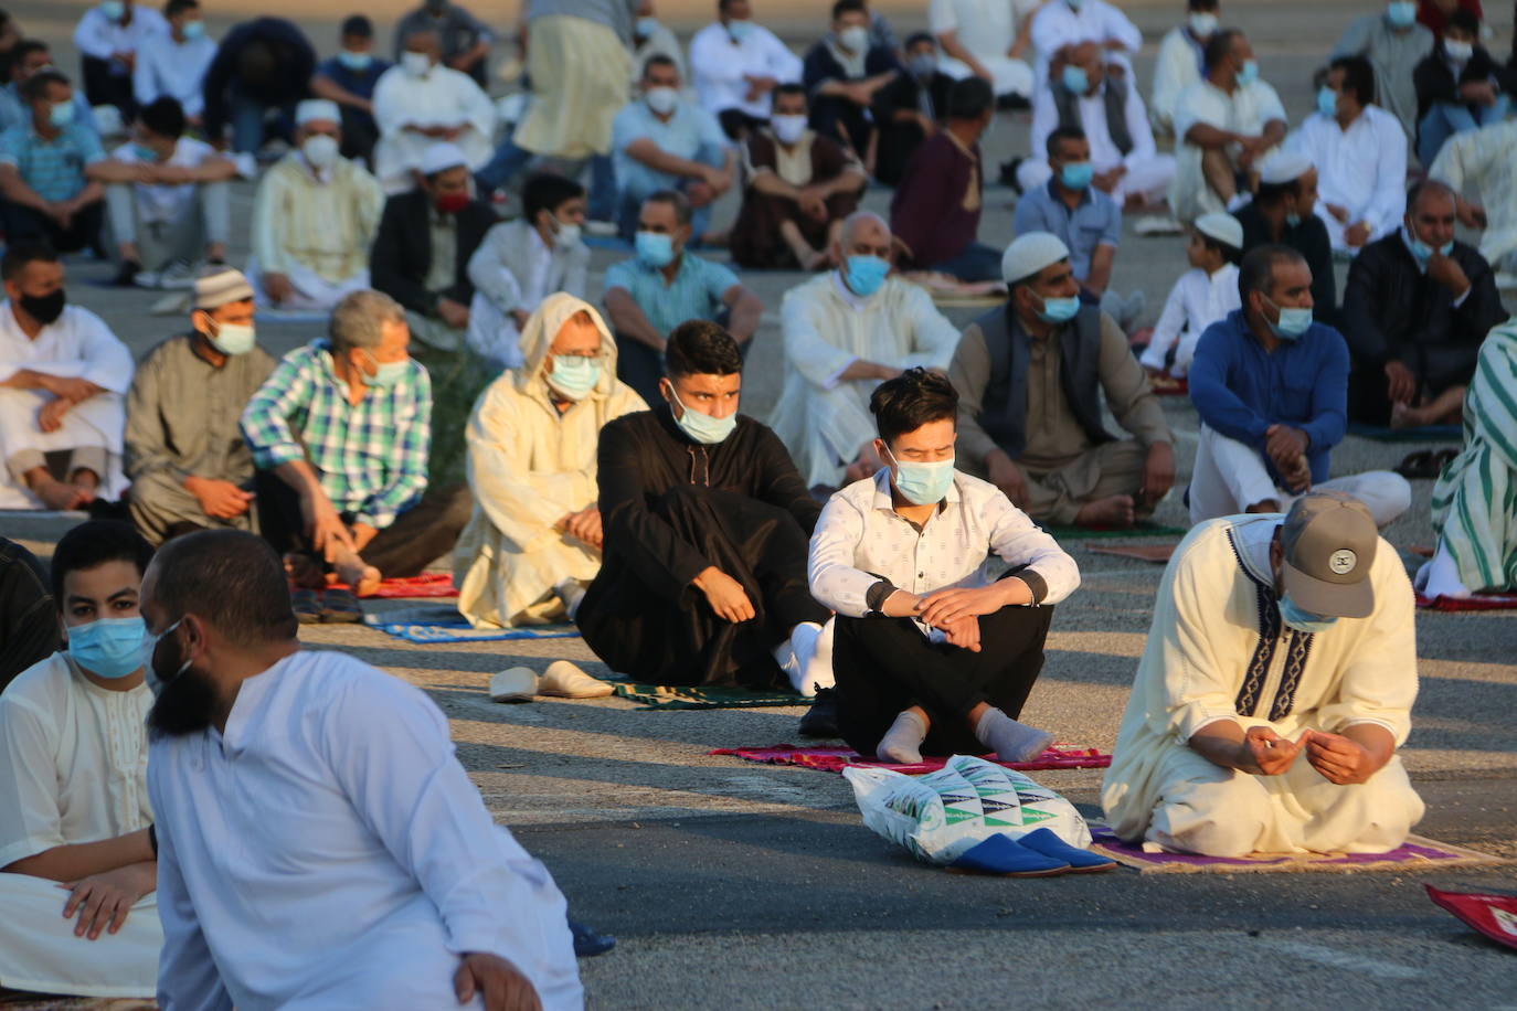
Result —
<path fill-rule="evenodd" d="M 520 343 L 523 362 L 469 417 L 475 508 L 454 547 L 454 582 L 475 628 L 573 620 L 601 570 L 601 429 L 648 409 L 616 377 L 616 341 L 589 303 L 548 296 Z"/>

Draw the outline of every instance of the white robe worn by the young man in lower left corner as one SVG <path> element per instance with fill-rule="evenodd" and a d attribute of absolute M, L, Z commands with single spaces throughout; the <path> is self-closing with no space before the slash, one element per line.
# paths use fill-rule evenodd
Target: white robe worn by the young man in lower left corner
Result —
<path fill-rule="evenodd" d="M 147 685 L 111 691 L 67 653 L 23 671 L 0 694 L 0 867 L 146 829 Z M 86 997 L 152 997 L 158 894 L 137 900 L 115 934 L 74 937 L 58 882 L 0 873 L 0 985 Z"/>

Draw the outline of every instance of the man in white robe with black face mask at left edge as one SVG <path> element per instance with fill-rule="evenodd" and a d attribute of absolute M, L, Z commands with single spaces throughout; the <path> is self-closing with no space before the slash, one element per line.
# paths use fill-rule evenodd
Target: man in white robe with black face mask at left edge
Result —
<path fill-rule="evenodd" d="M 121 396 L 132 355 L 67 303 L 64 265 L 41 243 L 0 261 L 0 508 L 77 509 L 121 491 Z"/>

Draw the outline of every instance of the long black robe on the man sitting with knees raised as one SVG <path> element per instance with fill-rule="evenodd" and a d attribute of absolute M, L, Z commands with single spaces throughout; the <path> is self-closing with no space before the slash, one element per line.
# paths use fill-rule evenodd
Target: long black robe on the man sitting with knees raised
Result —
<path fill-rule="evenodd" d="M 576 614 L 586 644 L 637 681 L 781 684 L 774 647 L 828 611 L 806 574 L 821 505 L 775 434 L 739 415 L 702 446 L 660 406 L 607 424 L 598 465 L 605 544 Z M 742 584 L 754 618 L 716 617 L 692 585 L 711 565 Z"/>

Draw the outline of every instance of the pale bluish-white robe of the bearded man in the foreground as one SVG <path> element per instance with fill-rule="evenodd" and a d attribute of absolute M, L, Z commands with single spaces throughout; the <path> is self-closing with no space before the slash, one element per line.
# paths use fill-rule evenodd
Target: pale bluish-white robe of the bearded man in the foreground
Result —
<path fill-rule="evenodd" d="M 225 734 L 149 747 L 164 1008 L 457 1008 L 464 952 L 514 962 L 545 1011 L 584 1005 L 563 896 L 417 688 L 300 650 L 241 684 Z"/>

